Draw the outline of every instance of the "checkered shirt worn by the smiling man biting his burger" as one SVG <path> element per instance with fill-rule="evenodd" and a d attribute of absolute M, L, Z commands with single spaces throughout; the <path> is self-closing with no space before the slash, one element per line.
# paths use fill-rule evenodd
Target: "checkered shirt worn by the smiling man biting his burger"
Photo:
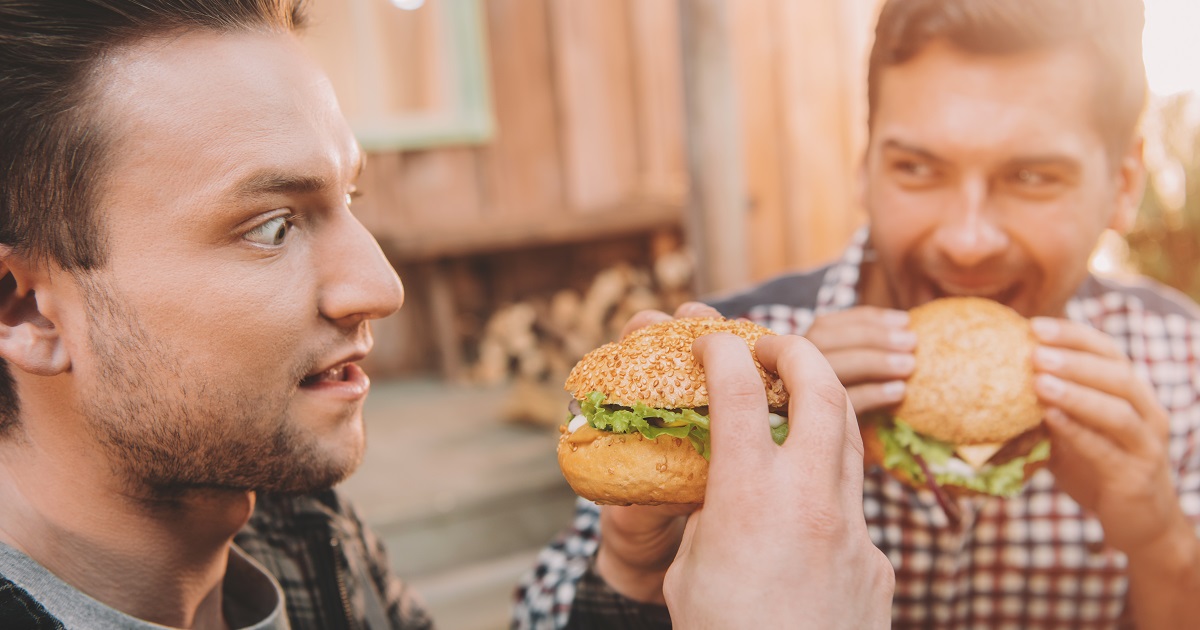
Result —
<path fill-rule="evenodd" d="M 866 242 L 864 229 L 828 266 L 713 304 L 781 334 L 804 334 L 816 317 L 857 304 Z M 1200 535 L 1200 311 L 1148 281 L 1088 277 L 1067 317 L 1109 334 L 1153 384 L 1171 418 L 1176 493 Z M 1132 626 L 1124 554 L 1105 546 L 1099 521 L 1058 490 L 1048 470 L 1014 498 L 965 498 L 960 508 L 962 520 L 952 524 L 929 490 L 914 491 L 880 467 L 866 472 L 868 530 L 896 572 L 893 628 Z M 616 618 L 612 610 L 641 611 L 644 619 L 661 614 L 660 606 L 620 598 L 590 570 L 599 514 L 580 499 L 572 526 L 517 588 L 512 628 L 599 628 Z M 586 612 L 572 613 L 572 602 Z M 670 622 L 646 626 L 670 628 Z"/>

